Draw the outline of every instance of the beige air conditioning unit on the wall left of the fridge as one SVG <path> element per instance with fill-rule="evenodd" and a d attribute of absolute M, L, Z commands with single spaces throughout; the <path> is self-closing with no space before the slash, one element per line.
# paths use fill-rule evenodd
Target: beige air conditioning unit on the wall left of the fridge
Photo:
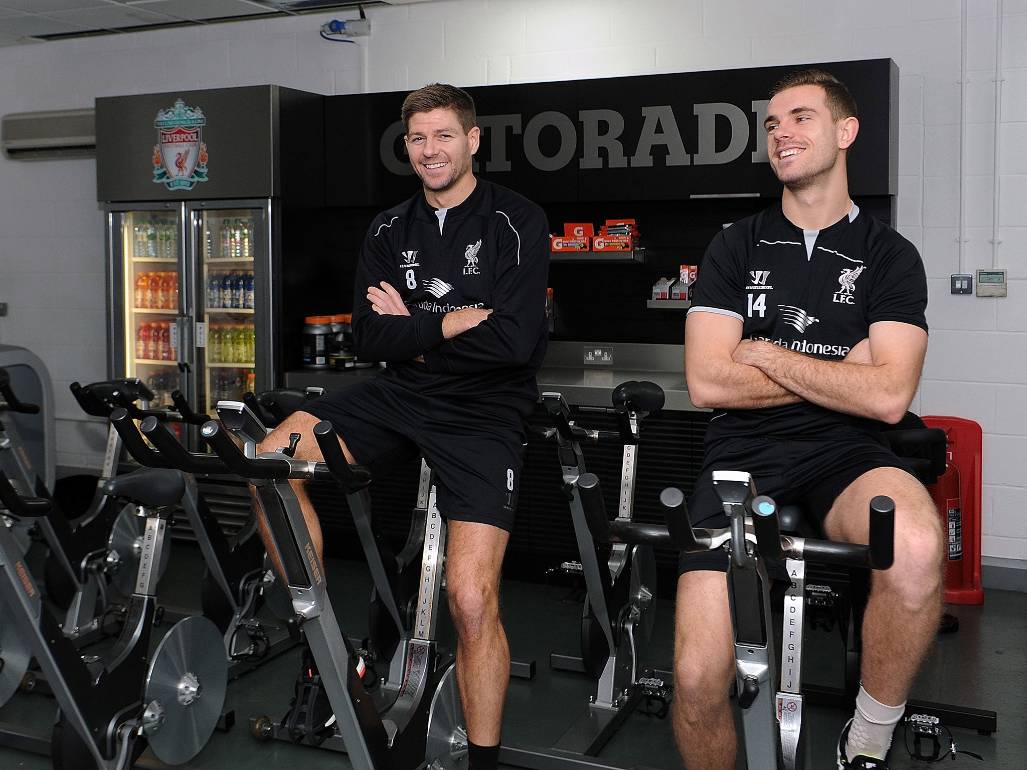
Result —
<path fill-rule="evenodd" d="M 97 155 L 96 123 L 91 108 L 4 115 L 0 149 L 12 160 L 92 158 Z"/>

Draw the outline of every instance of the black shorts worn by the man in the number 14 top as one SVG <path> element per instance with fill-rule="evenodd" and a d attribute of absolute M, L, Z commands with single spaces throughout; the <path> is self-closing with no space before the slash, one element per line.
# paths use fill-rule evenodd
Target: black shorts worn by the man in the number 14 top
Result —
<path fill-rule="evenodd" d="M 693 527 L 727 527 L 713 471 L 739 470 L 753 476 L 758 495 L 769 495 L 778 505 L 799 505 L 823 524 L 835 498 L 874 468 L 900 468 L 912 474 L 883 436 L 855 427 L 839 428 L 831 438 L 723 438 L 706 449 L 688 514 Z M 722 550 L 682 553 L 678 574 L 727 572 L 727 562 Z"/>

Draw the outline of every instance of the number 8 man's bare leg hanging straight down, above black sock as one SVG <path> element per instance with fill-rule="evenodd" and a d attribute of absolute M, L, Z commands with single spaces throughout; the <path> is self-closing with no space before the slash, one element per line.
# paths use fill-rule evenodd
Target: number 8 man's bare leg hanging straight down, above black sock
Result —
<path fill-rule="evenodd" d="M 510 653 L 499 618 L 499 577 L 509 533 L 474 522 L 450 521 L 446 592 L 457 631 L 456 679 L 467 737 L 499 743 L 509 684 Z"/>

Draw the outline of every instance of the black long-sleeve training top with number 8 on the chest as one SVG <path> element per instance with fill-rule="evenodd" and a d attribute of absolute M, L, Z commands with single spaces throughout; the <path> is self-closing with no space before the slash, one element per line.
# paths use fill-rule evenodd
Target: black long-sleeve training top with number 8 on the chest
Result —
<path fill-rule="evenodd" d="M 479 179 L 462 203 L 435 209 L 419 191 L 379 215 L 364 240 L 353 298 L 356 354 L 387 361 L 380 376 L 411 390 L 505 402 L 527 415 L 538 400 L 535 374 L 547 342 L 548 267 L 548 223 L 527 198 Z M 372 309 L 368 287 L 382 281 L 401 294 L 409 316 Z M 467 307 L 492 313 L 445 340 L 443 316 Z"/>

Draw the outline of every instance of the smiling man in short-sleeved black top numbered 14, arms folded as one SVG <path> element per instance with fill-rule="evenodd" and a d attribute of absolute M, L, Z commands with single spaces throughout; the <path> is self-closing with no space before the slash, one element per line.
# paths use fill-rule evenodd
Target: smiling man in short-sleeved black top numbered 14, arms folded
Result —
<path fill-rule="evenodd" d="M 874 574 L 862 686 L 838 742 L 839 768 L 884 768 L 942 605 L 938 512 L 878 428 L 899 422 L 916 391 L 926 278 L 916 248 L 848 197 L 859 130 L 848 89 L 810 70 L 771 97 L 782 202 L 714 238 L 688 311 L 688 393 L 714 409 L 689 507 L 696 526 L 726 527 L 711 472 L 748 471 L 757 492 L 803 504 L 828 537 L 866 543 L 870 499 L 895 500 L 895 565 Z M 674 724 L 689 770 L 735 762 L 726 569 L 723 552 L 681 557 Z"/>

